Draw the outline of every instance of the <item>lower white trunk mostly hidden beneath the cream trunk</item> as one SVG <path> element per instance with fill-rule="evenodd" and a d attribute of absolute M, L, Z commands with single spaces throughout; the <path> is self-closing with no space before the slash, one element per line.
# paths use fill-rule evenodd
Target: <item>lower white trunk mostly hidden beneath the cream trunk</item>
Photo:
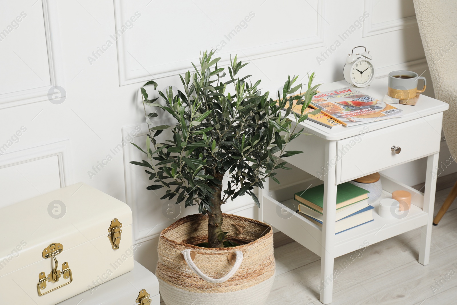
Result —
<path fill-rule="evenodd" d="M 143 293 L 142 293 L 143 291 Z M 148 298 L 138 300 L 140 294 Z M 138 301 L 137 301 L 138 300 Z M 149 303 L 147 303 L 149 302 Z M 135 261 L 133 270 L 58 305 L 160 305 L 159 282 L 154 273 Z"/>

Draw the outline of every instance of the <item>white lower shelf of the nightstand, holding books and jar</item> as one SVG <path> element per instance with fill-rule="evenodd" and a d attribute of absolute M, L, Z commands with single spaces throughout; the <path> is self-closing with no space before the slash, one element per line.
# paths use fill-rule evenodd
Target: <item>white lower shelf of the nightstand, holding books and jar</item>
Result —
<path fill-rule="evenodd" d="M 424 202 L 422 193 L 386 176 L 382 177 L 382 182 L 383 185 L 386 185 L 383 190 L 383 195 L 376 203 L 372 204 L 372 206 L 375 207 L 373 210 L 374 220 L 356 228 L 335 234 L 335 257 L 427 225 L 428 214 L 422 210 Z M 413 199 L 411 208 L 406 216 L 402 214 L 398 216 L 401 218 L 385 219 L 380 217 L 377 213 L 378 204 L 379 200 L 383 198 L 391 198 L 391 193 L 389 191 L 392 191 L 392 187 L 409 191 L 413 194 Z M 388 188 L 388 190 L 386 190 L 386 188 Z M 295 213 L 298 202 L 289 199 L 280 203 L 270 196 L 265 196 L 264 204 L 264 218 L 266 221 L 301 245 L 321 256 L 322 246 L 320 241 L 322 239 L 322 228 L 300 214 Z M 292 210 L 292 208 L 294 210 Z"/>

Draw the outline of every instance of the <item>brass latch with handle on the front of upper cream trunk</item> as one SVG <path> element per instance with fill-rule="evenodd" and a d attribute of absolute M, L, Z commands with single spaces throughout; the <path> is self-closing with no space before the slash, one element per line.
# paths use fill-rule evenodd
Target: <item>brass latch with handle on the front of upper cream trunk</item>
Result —
<path fill-rule="evenodd" d="M 46 273 L 44 273 L 44 272 L 38 274 L 38 279 L 39 279 L 38 284 L 37 284 L 38 295 L 42 296 L 44 294 L 48 294 L 51 291 L 54 291 L 55 289 L 59 289 L 60 287 L 64 287 L 65 285 L 68 285 L 73 281 L 73 276 L 71 275 L 71 270 L 69 268 L 68 262 L 64 262 L 62 264 L 63 271 L 57 270 L 58 261 L 57 261 L 56 255 L 59 254 L 60 252 L 62 252 L 63 250 L 64 250 L 64 246 L 62 246 L 62 244 L 58 244 L 58 243 L 52 243 L 43 250 L 43 254 L 42 254 L 43 258 L 48 258 L 48 257 L 53 258 L 54 268 L 51 269 L 51 273 L 49 273 L 48 276 L 46 276 Z M 52 262 L 51 262 L 51 266 L 52 266 Z M 41 290 L 46 289 L 46 284 L 47 284 L 46 282 L 50 282 L 50 283 L 58 282 L 59 278 L 62 276 L 62 273 L 64 273 L 64 279 L 70 278 L 69 282 L 62 284 L 56 288 L 53 288 L 45 293 L 41 292 Z"/>

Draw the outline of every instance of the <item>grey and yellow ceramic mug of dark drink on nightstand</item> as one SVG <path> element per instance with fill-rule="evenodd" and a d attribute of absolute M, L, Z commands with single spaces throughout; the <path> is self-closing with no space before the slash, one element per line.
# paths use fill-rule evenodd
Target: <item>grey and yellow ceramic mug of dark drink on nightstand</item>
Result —
<path fill-rule="evenodd" d="M 424 80 L 424 88 L 422 90 L 417 90 L 418 80 Z M 424 92 L 427 80 L 416 72 L 398 70 L 389 73 L 388 86 L 388 96 L 399 100 L 407 100 L 415 97 L 417 93 Z"/>

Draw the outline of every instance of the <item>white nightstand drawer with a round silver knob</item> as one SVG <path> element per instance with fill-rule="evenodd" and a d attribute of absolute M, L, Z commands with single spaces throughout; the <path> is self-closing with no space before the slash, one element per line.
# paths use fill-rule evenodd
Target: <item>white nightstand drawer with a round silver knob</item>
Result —
<path fill-rule="evenodd" d="M 413 107 L 413 106 L 411 106 Z M 338 141 L 336 183 L 381 171 L 440 150 L 442 113 Z"/>

